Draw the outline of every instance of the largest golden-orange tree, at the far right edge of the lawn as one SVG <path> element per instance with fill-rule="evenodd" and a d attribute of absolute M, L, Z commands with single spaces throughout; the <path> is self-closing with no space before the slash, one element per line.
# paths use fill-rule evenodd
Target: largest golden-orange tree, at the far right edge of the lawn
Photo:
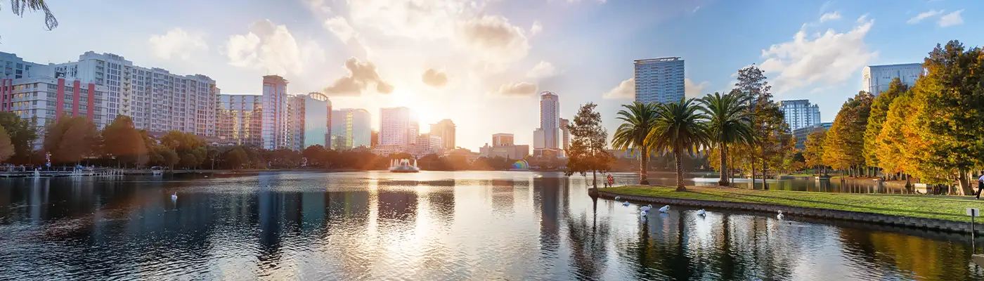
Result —
<path fill-rule="evenodd" d="M 947 184 L 956 175 L 960 191 L 972 194 L 967 174 L 984 166 L 984 51 L 957 40 L 937 44 L 923 68 L 926 73 L 913 90 L 912 126 L 928 144 L 918 151 L 927 165 L 921 170 L 940 172 L 920 179 Z"/>

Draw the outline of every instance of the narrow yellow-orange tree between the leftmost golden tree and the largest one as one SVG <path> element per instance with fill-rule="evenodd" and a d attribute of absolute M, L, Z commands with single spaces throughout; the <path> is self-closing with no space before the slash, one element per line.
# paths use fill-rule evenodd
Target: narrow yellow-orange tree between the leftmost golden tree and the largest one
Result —
<path fill-rule="evenodd" d="M 909 89 L 901 80 L 895 78 L 889 84 L 889 89 L 875 97 L 871 104 L 871 114 L 868 116 L 868 125 L 864 131 L 864 157 L 865 163 L 872 167 L 882 167 L 878 159 L 878 136 L 882 133 L 882 127 L 889 118 L 889 106 L 895 97 L 902 95 Z M 884 167 L 883 167 L 884 168 Z"/>

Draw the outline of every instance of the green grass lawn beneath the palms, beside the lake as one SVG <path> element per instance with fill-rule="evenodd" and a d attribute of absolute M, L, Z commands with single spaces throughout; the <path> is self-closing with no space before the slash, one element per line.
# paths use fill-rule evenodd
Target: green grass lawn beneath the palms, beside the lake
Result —
<path fill-rule="evenodd" d="M 968 222 L 970 217 L 966 215 L 965 208 L 984 208 L 984 200 L 974 200 L 973 197 L 829 194 L 709 187 L 687 187 L 687 190 L 678 193 L 673 188 L 618 187 L 599 191 L 646 197 L 767 203 Z M 984 219 L 977 219 L 977 221 L 984 221 Z"/>

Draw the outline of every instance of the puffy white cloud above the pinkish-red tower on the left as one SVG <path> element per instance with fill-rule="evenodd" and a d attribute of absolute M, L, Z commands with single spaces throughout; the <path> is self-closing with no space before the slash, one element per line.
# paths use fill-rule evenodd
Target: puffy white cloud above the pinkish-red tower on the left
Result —
<path fill-rule="evenodd" d="M 317 42 L 298 45 L 286 26 L 270 20 L 253 23 L 246 34 L 229 36 L 224 51 L 233 66 L 271 74 L 301 74 L 305 64 L 325 61 L 325 50 Z"/>

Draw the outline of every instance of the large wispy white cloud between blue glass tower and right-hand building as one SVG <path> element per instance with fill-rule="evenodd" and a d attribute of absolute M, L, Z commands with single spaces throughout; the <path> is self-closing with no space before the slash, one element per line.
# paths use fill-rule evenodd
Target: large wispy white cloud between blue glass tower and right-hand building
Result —
<path fill-rule="evenodd" d="M 776 93 L 817 83 L 843 83 L 878 56 L 878 52 L 868 51 L 864 41 L 874 24 L 875 21 L 870 20 L 847 32 L 828 29 L 809 37 L 807 25 L 803 25 L 792 41 L 773 44 L 763 50 L 766 61 L 759 68 L 766 74 L 777 74 L 771 80 Z"/>

